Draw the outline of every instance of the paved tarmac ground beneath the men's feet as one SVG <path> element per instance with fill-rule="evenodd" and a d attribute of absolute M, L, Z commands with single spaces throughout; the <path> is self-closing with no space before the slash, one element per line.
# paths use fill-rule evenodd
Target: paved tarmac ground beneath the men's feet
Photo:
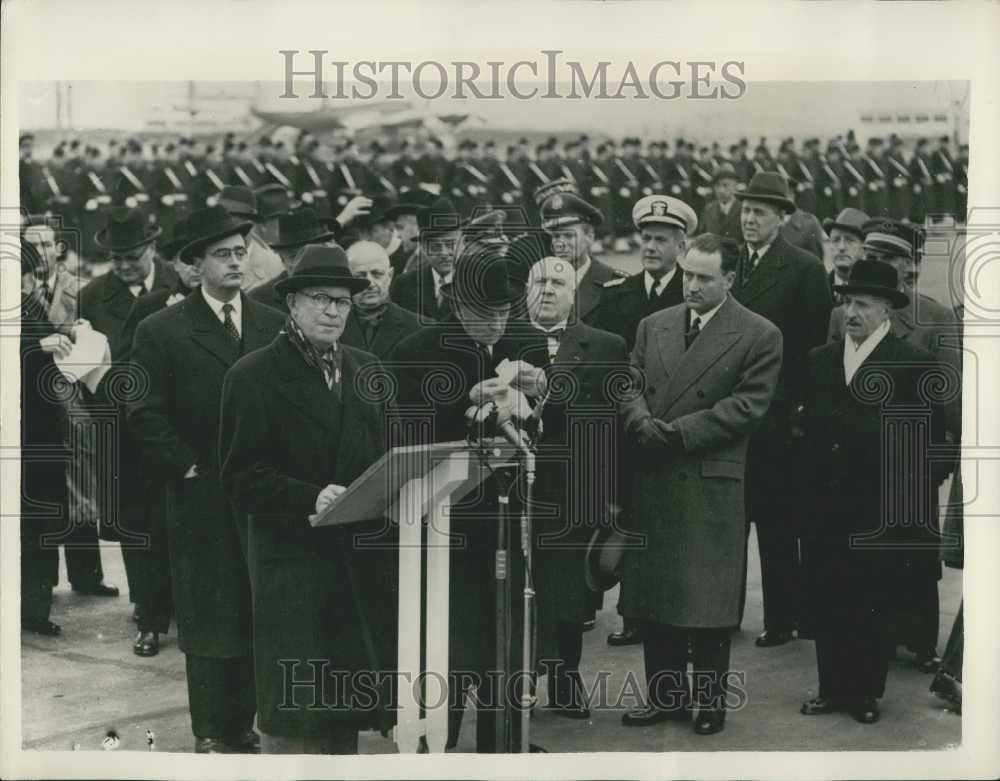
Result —
<path fill-rule="evenodd" d="M 921 288 L 940 301 L 949 300 L 948 279 L 954 272 L 954 247 L 945 240 L 924 261 Z M 604 255 L 627 270 L 638 268 L 635 255 Z M 945 496 L 947 494 L 945 493 Z M 753 541 L 753 537 L 751 537 Z M 745 675 L 747 702 L 731 713 L 726 729 L 698 738 L 689 727 L 663 724 L 647 729 L 621 726 L 620 709 L 595 709 L 588 722 L 539 712 L 532 719 L 532 740 L 549 751 L 685 751 L 685 750 L 905 750 L 941 749 L 961 740 L 961 720 L 928 690 L 929 676 L 918 673 L 909 654 L 893 663 L 882 721 L 862 726 L 846 715 L 806 718 L 800 703 L 815 695 L 815 652 L 809 641 L 758 649 L 753 638 L 761 628 L 761 593 L 756 546 L 751 546 L 748 606 L 743 631 L 734 638 L 732 668 Z M 118 547 L 103 551 L 107 581 L 125 586 Z M 65 573 L 63 583 L 65 584 Z M 945 639 L 961 600 L 961 573 L 945 570 L 940 584 L 941 637 Z M 631 674 L 642 680 L 638 647 L 612 649 L 605 637 L 617 627 L 616 593 L 605 598 L 597 628 L 585 636 L 582 673 L 591 683 L 607 671 L 608 690 L 620 691 Z M 192 739 L 184 683 L 184 659 L 175 636 L 164 638 L 160 655 L 142 659 L 132 654 L 134 625 L 127 596 L 94 599 L 73 594 L 63 585 L 56 592 L 52 618 L 63 626 L 62 637 L 22 635 L 24 691 L 23 741 L 26 749 L 99 750 L 108 729 L 121 736 L 121 748 L 143 750 L 146 730 L 156 736 L 159 751 L 190 751 Z M 606 673 L 601 673 L 606 674 Z M 625 699 L 621 705 L 634 704 Z M 472 716 L 472 714 L 469 714 Z M 474 749 L 472 719 L 467 721 L 460 751 Z M 377 734 L 362 737 L 365 753 L 394 752 L 391 741 Z"/>

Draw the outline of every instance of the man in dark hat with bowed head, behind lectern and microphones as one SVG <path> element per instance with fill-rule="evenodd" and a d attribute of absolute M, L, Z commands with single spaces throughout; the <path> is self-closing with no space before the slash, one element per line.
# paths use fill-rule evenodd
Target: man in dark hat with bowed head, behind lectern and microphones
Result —
<path fill-rule="evenodd" d="M 521 294 L 510 283 L 503 244 L 468 245 L 454 273 L 454 310 L 440 322 L 428 324 L 404 339 L 389 356 L 388 363 L 398 382 L 399 413 L 407 421 L 405 430 L 411 432 L 406 439 L 410 444 L 464 440 L 469 433 L 466 410 L 470 392 L 487 380 L 496 380 L 497 366 L 505 359 L 519 357 L 520 334 L 512 331 L 509 320 L 511 308 Z M 440 383 L 435 378 L 440 377 L 446 377 L 455 392 L 436 392 Z M 429 425 L 420 425 L 422 420 Z M 454 746 L 458 741 L 467 690 L 473 683 L 480 683 L 476 745 L 478 751 L 490 753 L 509 747 L 496 744 L 496 719 L 502 714 L 497 710 L 500 694 L 495 689 L 496 681 L 486 676 L 495 663 L 497 485 L 490 481 L 484 490 L 482 497 L 464 501 L 451 510 L 456 544 L 451 551 L 448 744 Z M 510 569 L 517 574 L 521 565 L 514 562 Z M 516 585 L 514 593 L 519 593 Z M 515 600 L 515 614 L 518 602 Z M 513 626 L 520 625 L 516 616 L 513 622 Z M 518 636 L 515 632 L 515 640 L 519 641 Z"/>

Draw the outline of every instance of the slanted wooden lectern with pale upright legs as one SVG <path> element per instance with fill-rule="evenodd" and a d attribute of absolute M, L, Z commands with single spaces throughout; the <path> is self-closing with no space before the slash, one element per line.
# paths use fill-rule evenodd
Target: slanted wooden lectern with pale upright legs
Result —
<path fill-rule="evenodd" d="M 434 753 L 443 752 L 448 741 L 451 505 L 489 478 L 491 469 L 514 465 L 516 456 L 515 447 L 500 438 L 476 445 L 461 441 L 393 448 L 312 520 L 313 526 L 330 526 L 385 517 L 399 524 L 399 686 L 394 739 L 401 754 L 417 753 L 421 738 Z M 427 591 L 426 604 L 421 604 L 425 547 Z M 420 661 L 424 616 L 426 668 Z M 428 689 L 422 701 L 434 706 L 423 717 L 420 681 Z M 440 691 L 430 691 L 435 684 Z"/>

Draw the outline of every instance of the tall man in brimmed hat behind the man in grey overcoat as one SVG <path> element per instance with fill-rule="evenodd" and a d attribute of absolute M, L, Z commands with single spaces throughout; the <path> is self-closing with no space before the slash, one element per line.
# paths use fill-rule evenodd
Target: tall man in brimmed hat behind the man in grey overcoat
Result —
<path fill-rule="evenodd" d="M 744 244 L 733 295 L 778 326 L 784 345 L 774 401 L 751 437 L 747 460 L 747 533 L 753 523 L 764 591 L 764 631 L 757 645 L 769 647 L 788 642 L 801 618 L 796 605 L 801 509 L 792 429 L 802 403 L 806 353 L 826 341 L 832 300 L 822 261 L 781 235 L 786 216 L 795 211 L 785 178 L 757 173 L 736 198 Z"/>

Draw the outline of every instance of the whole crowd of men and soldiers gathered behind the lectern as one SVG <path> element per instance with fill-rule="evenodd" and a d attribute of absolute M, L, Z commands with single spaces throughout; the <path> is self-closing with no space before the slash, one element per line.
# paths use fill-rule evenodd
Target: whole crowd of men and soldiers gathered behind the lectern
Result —
<path fill-rule="evenodd" d="M 937 491 L 961 486 L 960 325 L 918 281 L 920 226 L 957 212 L 964 164 L 946 143 L 905 162 L 895 140 L 852 143 L 721 159 L 580 140 L 501 162 L 472 142 L 449 161 L 432 140 L 389 165 L 351 144 L 323 160 L 308 136 L 189 139 L 149 166 L 126 144 L 107 168 L 63 148 L 62 174 L 95 188 L 82 213 L 57 170 L 39 195 L 22 167 L 22 627 L 60 633 L 60 545 L 89 557 L 69 568 L 75 590 L 118 595 L 100 533 L 122 545 L 134 652 L 156 655 L 174 620 L 195 751 L 355 752 L 359 730 L 392 722 L 391 685 L 362 673 L 395 669 L 395 531 L 311 519 L 389 447 L 466 439 L 473 405 L 542 422 L 528 574 L 546 708 L 589 716 L 582 637 L 620 583 L 608 642 L 642 643 L 648 684 L 623 723 L 722 730 L 751 527 L 757 647 L 816 643 L 803 714 L 877 721 L 900 644 L 957 699 L 960 622 L 944 662 L 936 646 L 958 502 L 940 518 Z M 54 202 L 56 188 L 74 195 Z M 60 260 L 72 226 L 110 267 L 82 287 Z M 595 257 L 605 238 L 635 241 L 642 269 Z M 106 355 L 55 393 L 81 329 Z M 94 420 L 114 435 L 72 433 Z M 500 742 L 491 707 L 499 494 L 493 479 L 450 513 L 448 745 L 475 689 L 483 752 L 520 745 L 517 720 Z M 330 685 L 289 692 L 289 660 L 296 680 Z"/>

